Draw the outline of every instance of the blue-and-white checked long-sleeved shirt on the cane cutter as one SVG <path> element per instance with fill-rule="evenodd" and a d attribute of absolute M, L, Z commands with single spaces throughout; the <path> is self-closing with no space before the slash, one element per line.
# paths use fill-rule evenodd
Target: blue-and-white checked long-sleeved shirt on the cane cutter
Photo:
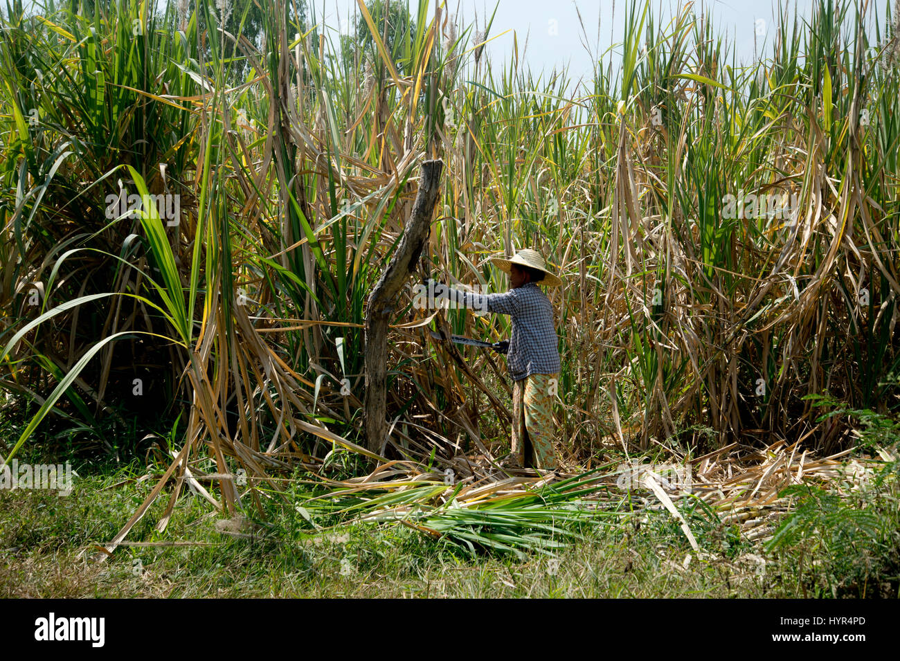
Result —
<path fill-rule="evenodd" d="M 511 317 L 507 364 L 512 380 L 560 371 L 553 304 L 534 282 L 503 294 L 482 295 L 454 289 L 448 294 L 465 308 L 486 309 Z"/>

